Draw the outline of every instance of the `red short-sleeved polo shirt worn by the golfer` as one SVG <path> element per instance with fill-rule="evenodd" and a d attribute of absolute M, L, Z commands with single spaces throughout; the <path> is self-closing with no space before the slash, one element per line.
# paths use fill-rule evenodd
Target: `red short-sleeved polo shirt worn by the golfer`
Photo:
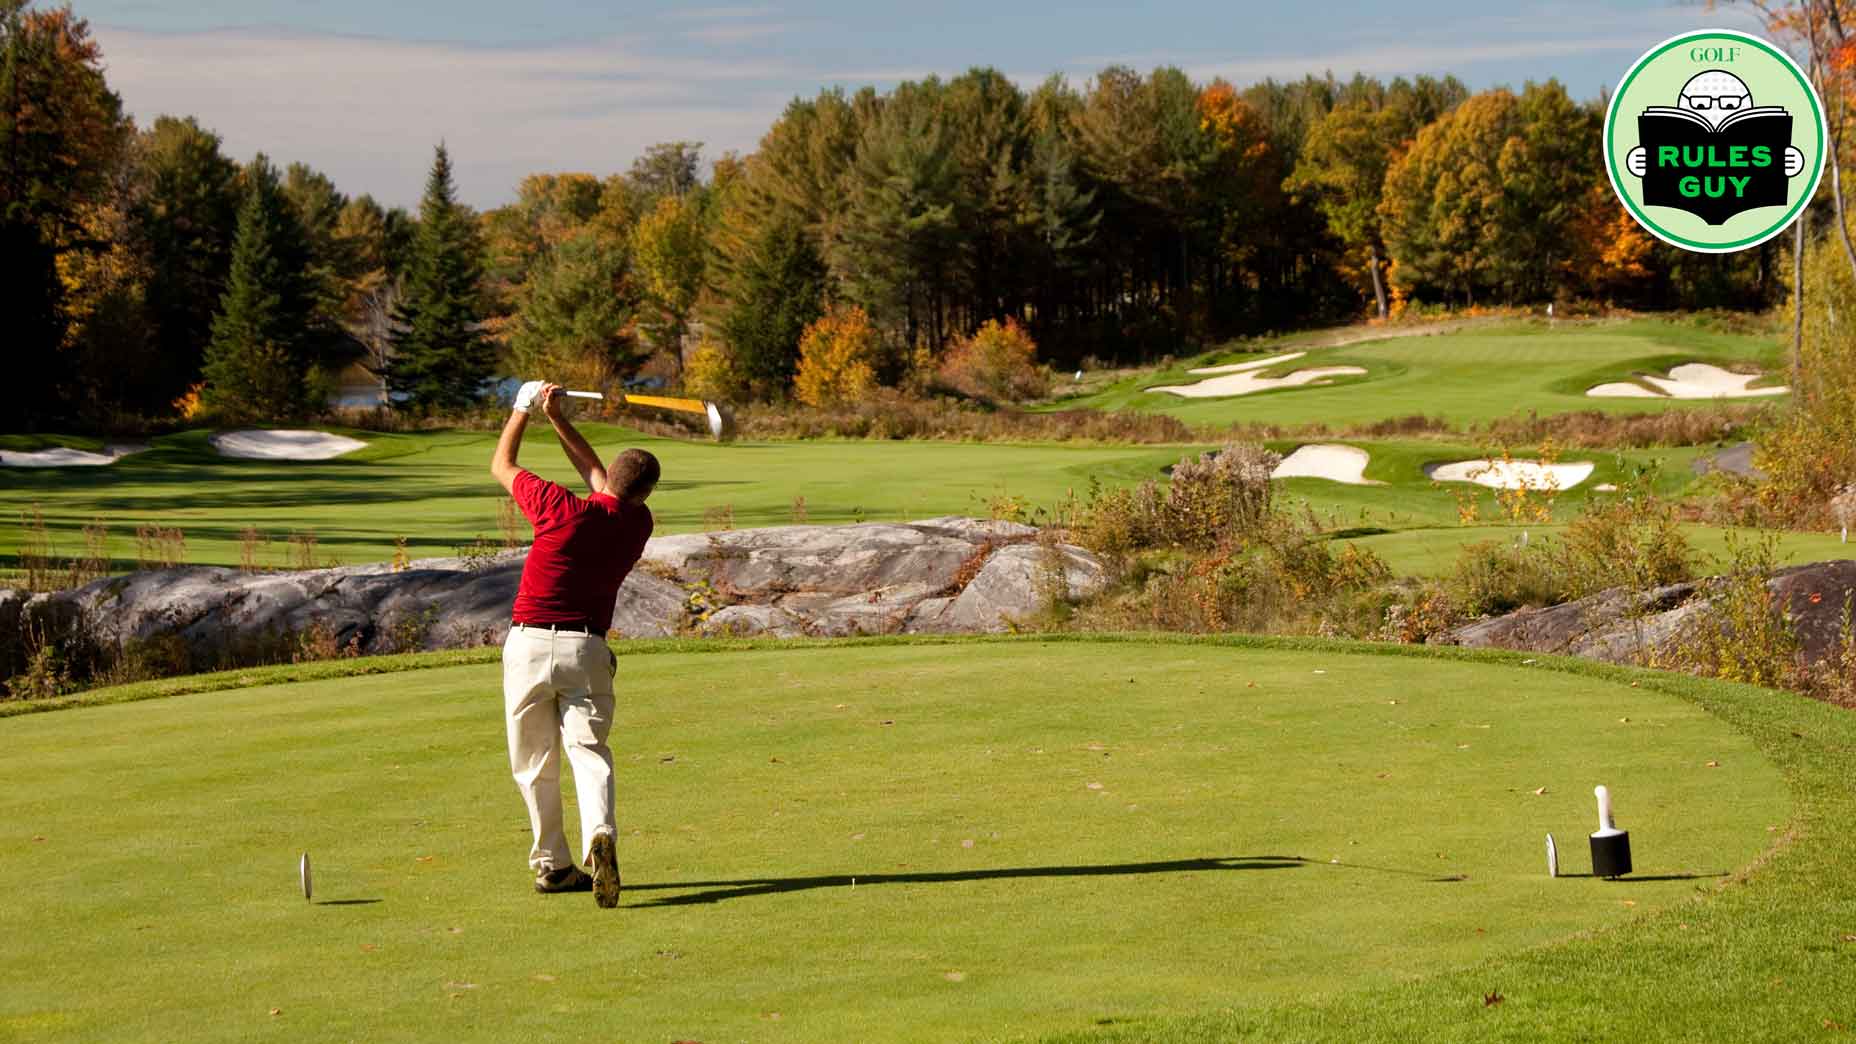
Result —
<path fill-rule="evenodd" d="M 512 617 L 518 624 L 612 626 L 618 585 L 651 539 L 651 511 L 596 492 L 581 500 L 535 472 L 516 476 L 516 507 L 535 526 Z"/>

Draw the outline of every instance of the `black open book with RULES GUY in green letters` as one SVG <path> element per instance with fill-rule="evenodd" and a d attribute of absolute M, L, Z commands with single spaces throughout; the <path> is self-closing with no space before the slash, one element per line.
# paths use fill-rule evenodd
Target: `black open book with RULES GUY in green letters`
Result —
<path fill-rule="evenodd" d="M 1784 108 L 1739 110 L 1715 128 L 1698 111 L 1650 106 L 1637 117 L 1637 137 L 1648 152 L 1646 206 L 1687 210 L 1709 225 L 1785 206 L 1791 113 Z"/>

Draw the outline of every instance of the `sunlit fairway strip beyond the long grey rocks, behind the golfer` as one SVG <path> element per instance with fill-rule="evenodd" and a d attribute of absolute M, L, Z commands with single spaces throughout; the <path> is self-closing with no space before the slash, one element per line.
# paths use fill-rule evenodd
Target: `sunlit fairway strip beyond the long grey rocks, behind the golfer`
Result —
<path fill-rule="evenodd" d="M 1084 490 L 1162 476 L 1180 448 L 999 446 L 963 442 L 679 442 L 631 429 L 585 424 L 601 453 L 642 446 L 663 461 L 651 498 L 657 533 L 798 520 L 844 524 L 987 515 L 987 502 L 1012 494 L 1054 505 Z M 483 539 L 501 546 L 490 477 L 490 431 L 382 435 L 347 431 L 369 446 L 332 461 L 236 461 L 206 444 L 206 431 L 154 438 L 154 448 L 106 468 L 0 468 L 0 554 L 17 554 L 19 513 L 43 511 L 58 555 L 84 552 L 84 526 L 102 520 L 117 568 L 135 567 L 135 528 L 158 524 L 186 533 L 191 565 L 239 565 L 239 533 L 269 542 L 260 567 L 297 565 L 293 533 L 316 535 L 316 565 L 386 561 L 403 537 L 412 557 L 457 555 Z M 551 431 L 535 431 L 522 464 L 579 489 Z M 520 542 L 529 528 L 516 520 Z"/>

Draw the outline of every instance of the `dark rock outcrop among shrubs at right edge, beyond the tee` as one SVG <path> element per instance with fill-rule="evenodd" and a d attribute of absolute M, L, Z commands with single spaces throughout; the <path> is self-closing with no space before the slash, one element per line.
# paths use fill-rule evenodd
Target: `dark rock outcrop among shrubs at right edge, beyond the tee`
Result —
<path fill-rule="evenodd" d="M 1856 561 L 1837 559 L 1774 572 L 1772 604 L 1791 617 L 1806 659 L 1836 652 L 1843 606 L 1856 606 Z M 1650 654 L 1682 645 L 1696 626 L 1709 626 L 1715 587 L 1672 583 L 1654 591 L 1615 587 L 1546 609 L 1518 609 L 1451 632 L 1448 645 L 1561 652 L 1611 663 L 1644 663 Z"/>

